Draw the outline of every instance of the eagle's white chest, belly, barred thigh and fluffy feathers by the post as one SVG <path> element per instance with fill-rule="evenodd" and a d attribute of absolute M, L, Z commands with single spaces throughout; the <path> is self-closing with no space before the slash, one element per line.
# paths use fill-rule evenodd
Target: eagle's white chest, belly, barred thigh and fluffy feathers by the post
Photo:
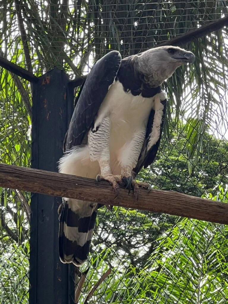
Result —
<path fill-rule="evenodd" d="M 72 148 L 60 159 L 59 171 L 96 178 L 100 174 L 98 159 L 104 157 L 110 158 L 112 174 L 120 174 L 121 163 L 127 164 L 134 158 L 134 151 L 140 153 L 154 100 L 155 97 L 143 98 L 126 93 L 123 85 L 116 81 L 97 113 L 94 132 L 88 132 L 88 145 Z"/>

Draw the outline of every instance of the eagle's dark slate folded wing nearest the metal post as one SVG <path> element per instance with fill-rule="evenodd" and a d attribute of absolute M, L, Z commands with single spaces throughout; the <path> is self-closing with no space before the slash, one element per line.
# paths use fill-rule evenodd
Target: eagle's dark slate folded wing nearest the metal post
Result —
<path fill-rule="evenodd" d="M 115 81 L 121 64 L 118 51 L 111 51 L 92 67 L 79 92 L 71 122 L 64 141 L 64 152 L 82 143 L 94 123 L 95 116 Z"/>

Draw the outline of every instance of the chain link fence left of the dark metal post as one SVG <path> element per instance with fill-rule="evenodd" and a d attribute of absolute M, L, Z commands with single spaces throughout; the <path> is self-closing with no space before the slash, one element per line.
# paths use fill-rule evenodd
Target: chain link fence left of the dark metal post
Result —
<path fill-rule="evenodd" d="M 1 162 L 30 166 L 31 94 L 28 84 L 1 70 Z M 27 105 L 27 107 L 26 107 Z M 29 193 L 0 187 L 0 302 L 27 303 L 29 290 Z"/>

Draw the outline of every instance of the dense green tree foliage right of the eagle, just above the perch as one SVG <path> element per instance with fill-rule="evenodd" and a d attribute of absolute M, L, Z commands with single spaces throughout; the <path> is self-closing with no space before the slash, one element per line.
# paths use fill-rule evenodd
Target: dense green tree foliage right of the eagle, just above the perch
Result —
<path fill-rule="evenodd" d="M 142 170 L 138 178 L 153 184 L 154 188 L 195 196 L 213 193 L 214 187 L 227 184 L 227 140 L 218 139 L 209 133 L 209 129 L 205 130 L 200 153 L 195 153 L 189 160 L 189 151 L 193 149 L 192 142 L 189 142 L 191 136 L 194 134 L 189 131 L 189 124 L 181 124 L 178 130 L 170 133 L 169 140 L 163 137 L 157 160 L 151 169 Z"/>

